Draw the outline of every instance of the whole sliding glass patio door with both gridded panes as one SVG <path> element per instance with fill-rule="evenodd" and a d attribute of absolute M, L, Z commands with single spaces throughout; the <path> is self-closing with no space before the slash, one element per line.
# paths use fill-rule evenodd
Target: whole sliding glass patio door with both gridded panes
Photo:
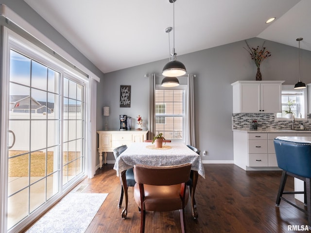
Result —
<path fill-rule="evenodd" d="M 8 230 L 85 174 L 84 83 L 18 48 L 10 47 L 9 82 L 2 86 L 8 93 L 1 112 L 8 122 Z"/>

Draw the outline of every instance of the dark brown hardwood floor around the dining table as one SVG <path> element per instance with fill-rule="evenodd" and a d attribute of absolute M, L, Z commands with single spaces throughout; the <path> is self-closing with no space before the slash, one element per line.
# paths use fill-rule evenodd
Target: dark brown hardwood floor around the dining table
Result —
<path fill-rule="evenodd" d="M 133 188 L 129 187 L 127 219 L 122 219 L 120 180 L 112 167 L 104 166 L 93 179 L 81 183 L 89 184 L 84 192 L 109 193 L 86 232 L 138 233 L 140 214 Z M 280 171 L 244 171 L 232 164 L 204 167 L 206 179 L 199 177 L 195 195 L 199 217 L 192 219 L 190 202 L 186 208 L 188 233 L 288 233 L 288 225 L 308 224 L 307 216 L 285 201 L 275 206 Z M 293 178 L 285 189 L 294 189 Z M 178 211 L 146 214 L 146 233 L 179 233 L 180 229 Z"/>

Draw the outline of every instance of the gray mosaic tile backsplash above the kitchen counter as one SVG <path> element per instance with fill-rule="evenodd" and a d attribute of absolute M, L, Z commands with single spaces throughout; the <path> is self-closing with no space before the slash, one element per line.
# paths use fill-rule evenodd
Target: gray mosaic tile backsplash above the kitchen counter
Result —
<path fill-rule="evenodd" d="M 311 130 L 309 119 L 311 114 L 308 114 L 308 119 L 296 118 L 294 122 L 295 129 L 299 129 L 301 123 L 306 129 Z M 252 121 L 257 120 L 259 130 L 290 130 L 292 129 L 292 120 L 276 120 L 275 115 L 262 113 L 234 113 L 232 114 L 232 129 L 249 129 Z"/>

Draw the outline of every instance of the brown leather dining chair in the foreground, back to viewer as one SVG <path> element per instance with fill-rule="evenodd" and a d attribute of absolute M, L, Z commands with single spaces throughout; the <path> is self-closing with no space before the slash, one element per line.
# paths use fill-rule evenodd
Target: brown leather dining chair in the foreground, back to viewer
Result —
<path fill-rule="evenodd" d="M 185 206 L 191 164 L 177 166 L 135 165 L 134 199 L 141 210 L 140 233 L 145 232 L 146 211 L 180 211 L 181 230 L 186 232 Z"/>

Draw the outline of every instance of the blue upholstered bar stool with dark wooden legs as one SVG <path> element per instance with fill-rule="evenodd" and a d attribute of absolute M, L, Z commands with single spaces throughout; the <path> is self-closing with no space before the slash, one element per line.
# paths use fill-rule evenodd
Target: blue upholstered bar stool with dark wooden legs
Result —
<path fill-rule="evenodd" d="M 277 166 L 283 169 L 280 186 L 276 198 L 276 206 L 285 200 L 308 215 L 308 227 L 311 229 L 311 143 L 295 143 L 274 139 Z M 287 176 L 304 181 L 304 191 L 284 192 Z M 304 194 L 307 211 L 285 199 L 283 194 Z"/>

